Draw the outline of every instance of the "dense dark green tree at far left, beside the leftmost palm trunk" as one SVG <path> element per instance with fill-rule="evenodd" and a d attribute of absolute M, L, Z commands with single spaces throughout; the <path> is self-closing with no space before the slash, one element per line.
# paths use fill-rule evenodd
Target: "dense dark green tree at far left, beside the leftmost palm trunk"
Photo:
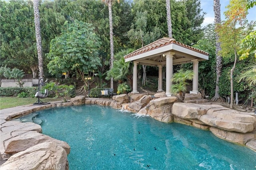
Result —
<path fill-rule="evenodd" d="M 36 78 L 38 57 L 34 28 L 33 2 L 0 1 L 1 65 L 19 68 Z"/>

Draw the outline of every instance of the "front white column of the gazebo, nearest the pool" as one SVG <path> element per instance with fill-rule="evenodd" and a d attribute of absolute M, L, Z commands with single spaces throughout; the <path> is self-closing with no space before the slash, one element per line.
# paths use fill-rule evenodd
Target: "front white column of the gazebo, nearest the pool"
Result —
<path fill-rule="evenodd" d="M 164 53 L 166 57 L 166 96 L 172 96 L 171 87 L 172 87 L 172 57 L 174 56 L 174 52 Z"/>

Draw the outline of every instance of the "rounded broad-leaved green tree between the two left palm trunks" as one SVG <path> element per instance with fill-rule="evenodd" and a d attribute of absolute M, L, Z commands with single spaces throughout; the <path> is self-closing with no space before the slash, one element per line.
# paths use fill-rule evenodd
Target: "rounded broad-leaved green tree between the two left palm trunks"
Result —
<path fill-rule="evenodd" d="M 76 76 L 82 78 L 86 86 L 86 77 L 101 66 L 98 57 L 98 49 L 101 42 L 94 33 L 91 24 L 74 20 L 73 23 L 64 23 L 62 34 L 50 43 L 50 52 L 47 58 L 49 72 L 51 74 L 67 74 L 76 72 Z"/>

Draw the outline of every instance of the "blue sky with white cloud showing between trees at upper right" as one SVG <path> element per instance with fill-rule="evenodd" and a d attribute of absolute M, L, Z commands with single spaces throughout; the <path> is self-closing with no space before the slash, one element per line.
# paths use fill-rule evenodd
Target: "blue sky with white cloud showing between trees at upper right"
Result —
<path fill-rule="evenodd" d="M 224 11 L 225 8 L 229 4 L 229 0 L 220 0 L 220 13 L 221 20 L 225 20 Z M 204 22 L 202 26 L 206 26 L 209 23 L 214 23 L 214 11 L 213 11 L 213 0 L 201 0 L 201 8 L 203 12 L 207 14 L 204 16 Z M 248 21 L 256 21 L 256 6 L 248 10 L 247 19 Z"/>

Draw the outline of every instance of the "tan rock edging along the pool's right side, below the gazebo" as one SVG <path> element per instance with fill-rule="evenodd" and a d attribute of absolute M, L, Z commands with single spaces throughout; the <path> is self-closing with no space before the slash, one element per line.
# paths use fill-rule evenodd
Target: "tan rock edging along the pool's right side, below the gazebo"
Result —
<path fill-rule="evenodd" d="M 148 96 L 151 98 L 148 103 L 141 103 L 145 95 L 134 94 L 130 96 L 132 103 L 126 100 L 117 102 L 113 97 L 112 101 L 86 98 L 85 104 L 112 106 L 115 109 L 150 115 L 165 123 L 176 122 L 210 130 L 220 139 L 244 145 L 256 152 L 256 114 L 236 111 L 216 104 L 180 103 L 175 96 L 164 97 L 162 93 L 159 98 Z"/>

